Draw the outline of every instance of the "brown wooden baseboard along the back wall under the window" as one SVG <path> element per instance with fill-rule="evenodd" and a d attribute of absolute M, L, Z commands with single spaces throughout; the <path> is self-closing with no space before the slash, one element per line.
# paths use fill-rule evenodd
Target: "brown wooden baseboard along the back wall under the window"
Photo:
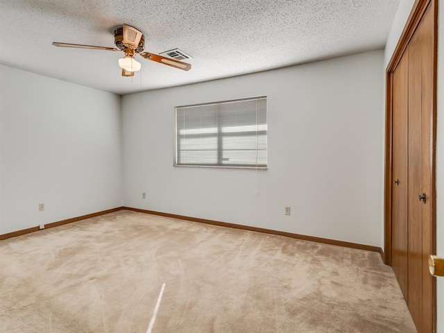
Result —
<path fill-rule="evenodd" d="M 187 221 L 193 221 L 193 222 L 207 223 L 207 224 L 212 224 L 212 225 L 219 225 L 221 227 L 228 227 L 228 228 L 235 228 L 235 229 L 242 229 L 242 230 L 249 230 L 249 231 L 256 231 L 256 232 L 264 232 L 266 234 L 278 234 L 279 236 L 290 237 L 290 238 L 294 238 L 294 239 L 302 239 L 304 241 L 315 241 L 316 243 L 343 246 L 344 248 L 357 248 L 358 250 L 377 252 L 381 255 L 381 257 L 384 258 L 384 251 L 382 250 L 382 248 L 378 248 L 377 246 L 350 243 L 349 241 L 336 241 L 334 239 L 307 236 L 305 234 L 293 234 L 291 232 L 284 232 L 284 231 L 271 230 L 271 229 L 265 229 L 265 228 L 251 227 L 249 225 L 240 225 L 240 224 L 227 223 L 227 222 L 221 222 L 221 221 L 200 219 L 197 217 L 182 216 L 182 215 L 169 214 L 169 213 L 163 213 L 163 212 L 155 212 L 153 210 L 141 210 L 139 208 L 133 208 L 133 207 L 121 207 L 121 210 L 131 210 L 133 212 L 153 214 L 153 215 L 158 215 L 158 216 L 166 216 L 166 217 L 171 217 L 173 219 L 181 219 L 181 220 L 187 220 Z"/>

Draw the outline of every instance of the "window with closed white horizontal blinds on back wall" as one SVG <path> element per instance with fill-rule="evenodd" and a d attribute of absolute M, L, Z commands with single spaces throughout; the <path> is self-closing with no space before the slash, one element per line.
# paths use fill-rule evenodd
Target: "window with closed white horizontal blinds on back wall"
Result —
<path fill-rule="evenodd" d="M 266 96 L 176 108 L 175 166 L 266 169 Z"/>

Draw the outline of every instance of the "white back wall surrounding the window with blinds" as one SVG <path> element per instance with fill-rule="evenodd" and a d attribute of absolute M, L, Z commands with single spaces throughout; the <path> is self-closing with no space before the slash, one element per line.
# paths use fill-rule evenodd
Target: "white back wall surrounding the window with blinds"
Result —
<path fill-rule="evenodd" d="M 381 246 L 383 56 L 123 96 L 124 204 Z M 259 95 L 268 170 L 173 167 L 174 106 Z"/>

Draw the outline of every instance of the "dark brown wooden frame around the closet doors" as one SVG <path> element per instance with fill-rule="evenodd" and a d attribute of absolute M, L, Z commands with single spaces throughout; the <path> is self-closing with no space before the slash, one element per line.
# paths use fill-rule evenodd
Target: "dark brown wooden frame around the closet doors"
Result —
<path fill-rule="evenodd" d="M 385 179 L 384 179 L 384 263 L 391 265 L 391 250 L 392 250 L 392 187 L 393 187 L 393 73 L 398 66 L 404 51 L 407 49 L 411 37 L 416 31 L 422 16 L 427 10 L 428 6 L 432 6 L 434 14 L 434 50 L 433 50 L 433 110 L 432 110 L 432 126 L 430 137 L 432 167 L 430 170 L 432 180 L 432 193 L 430 195 L 430 203 L 432 205 L 432 218 L 428 221 L 428 228 L 432 234 L 432 249 L 436 253 L 436 75 L 437 75 L 437 54 L 438 54 L 438 0 L 416 0 L 411 10 L 409 19 L 402 31 L 400 40 L 396 45 L 393 56 L 388 62 L 386 68 L 386 150 L 385 150 Z M 436 279 L 433 284 L 433 315 L 434 327 L 436 325 Z"/>

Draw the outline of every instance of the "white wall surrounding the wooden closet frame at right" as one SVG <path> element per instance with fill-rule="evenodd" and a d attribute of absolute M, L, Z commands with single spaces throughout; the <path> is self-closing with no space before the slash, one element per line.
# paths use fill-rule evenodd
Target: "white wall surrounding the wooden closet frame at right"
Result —
<path fill-rule="evenodd" d="M 384 68 L 393 55 L 396 44 L 402 33 L 407 18 L 413 8 L 414 0 L 401 0 L 395 16 L 395 22 L 387 40 L 384 54 Z M 444 22 L 444 8 L 439 7 L 438 22 Z M 444 193 L 444 33 L 442 28 L 438 33 L 438 119 L 437 119 L 437 146 L 436 146 L 436 254 L 444 257 L 444 209 L 442 197 Z M 444 333 L 444 278 L 437 280 L 437 332 Z"/>

